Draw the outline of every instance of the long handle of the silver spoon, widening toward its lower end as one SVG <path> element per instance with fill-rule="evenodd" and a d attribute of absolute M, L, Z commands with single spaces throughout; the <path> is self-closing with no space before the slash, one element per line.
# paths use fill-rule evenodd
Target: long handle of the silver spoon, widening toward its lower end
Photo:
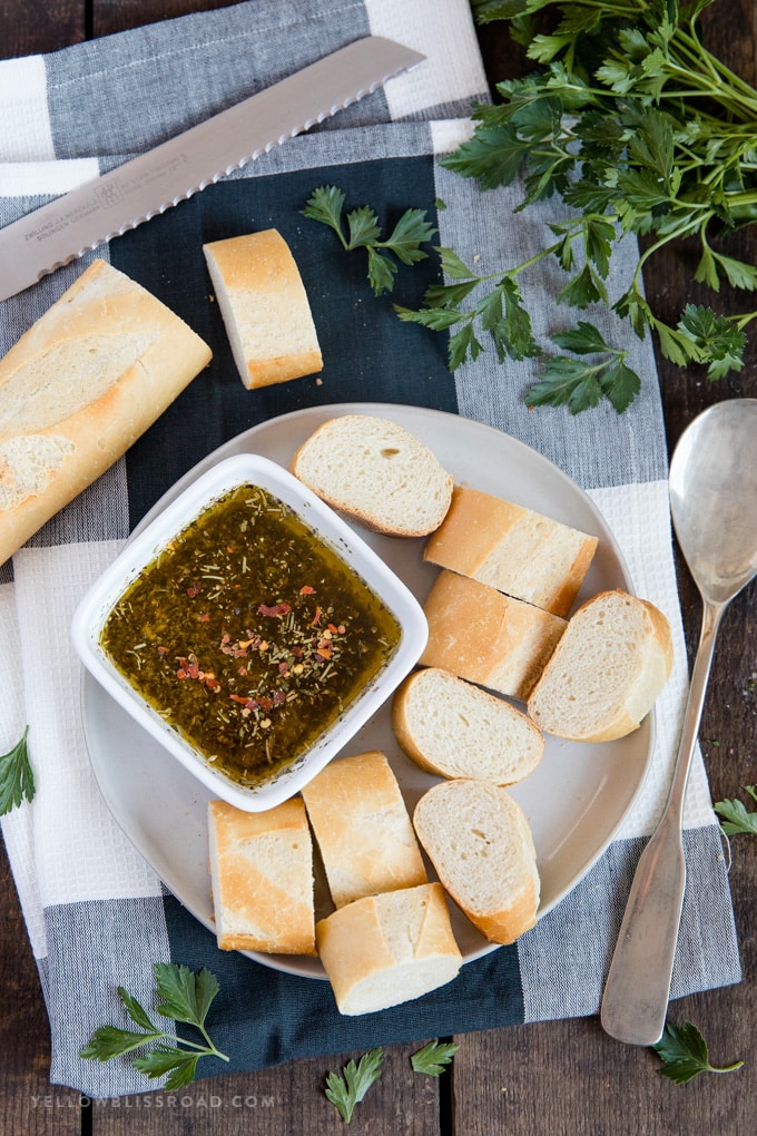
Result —
<path fill-rule="evenodd" d="M 723 604 L 705 600 L 683 730 L 667 803 L 639 859 L 602 1002 L 602 1025 L 620 1042 L 654 1045 L 663 1035 L 683 892 L 683 794 L 699 733 Z"/>

